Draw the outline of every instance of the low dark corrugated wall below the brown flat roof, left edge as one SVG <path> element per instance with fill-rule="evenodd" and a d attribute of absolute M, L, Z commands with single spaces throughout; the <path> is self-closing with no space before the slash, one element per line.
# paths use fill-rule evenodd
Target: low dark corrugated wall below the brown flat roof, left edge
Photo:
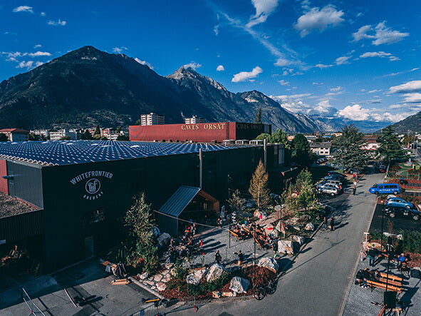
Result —
<path fill-rule="evenodd" d="M 43 233 L 43 210 L 0 218 L 0 240 L 12 243 Z"/>

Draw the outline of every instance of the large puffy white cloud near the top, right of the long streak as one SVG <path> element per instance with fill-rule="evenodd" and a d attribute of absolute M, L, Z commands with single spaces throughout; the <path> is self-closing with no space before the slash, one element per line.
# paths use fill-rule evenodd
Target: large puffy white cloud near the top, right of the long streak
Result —
<path fill-rule="evenodd" d="M 328 26 L 338 26 L 344 21 L 341 16 L 343 16 L 343 11 L 337 11 L 335 6 L 328 5 L 323 9 L 316 7 L 300 16 L 294 27 L 301 31 L 300 36 L 304 37 L 315 29 L 322 32 Z"/>

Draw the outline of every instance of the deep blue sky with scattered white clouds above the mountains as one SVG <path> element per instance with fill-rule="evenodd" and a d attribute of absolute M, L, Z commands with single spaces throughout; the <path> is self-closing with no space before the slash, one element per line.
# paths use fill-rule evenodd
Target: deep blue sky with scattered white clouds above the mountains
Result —
<path fill-rule="evenodd" d="M 191 66 L 295 113 L 421 111 L 421 1 L 0 0 L 0 80 L 85 45 L 162 76 Z"/>

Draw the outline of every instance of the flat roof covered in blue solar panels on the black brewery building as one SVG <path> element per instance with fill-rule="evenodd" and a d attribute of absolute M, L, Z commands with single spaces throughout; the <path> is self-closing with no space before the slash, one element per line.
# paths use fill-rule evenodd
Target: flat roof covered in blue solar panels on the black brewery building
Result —
<path fill-rule="evenodd" d="M 24 141 L 0 142 L 0 159 L 40 165 L 71 165 L 99 161 L 222 151 L 244 146 L 209 143 L 150 143 L 133 141 Z"/>

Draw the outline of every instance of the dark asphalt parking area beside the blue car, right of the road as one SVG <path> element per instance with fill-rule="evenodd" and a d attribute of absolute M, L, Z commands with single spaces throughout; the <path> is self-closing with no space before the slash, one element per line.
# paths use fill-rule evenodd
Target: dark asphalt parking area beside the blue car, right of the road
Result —
<path fill-rule="evenodd" d="M 382 231 L 382 218 L 383 218 L 383 204 L 378 204 L 375 208 L 373 219 L 370 224 L 370 231 Z M 412 220 L 412 218 L 390 218 L 385 215 L 383 219 L 383 230 L 388 231 L 389 223 L 393 225 L 393 234 L 399 233 L 400 230 L 419 230 L 421 231 L 421 220 Z"/>

